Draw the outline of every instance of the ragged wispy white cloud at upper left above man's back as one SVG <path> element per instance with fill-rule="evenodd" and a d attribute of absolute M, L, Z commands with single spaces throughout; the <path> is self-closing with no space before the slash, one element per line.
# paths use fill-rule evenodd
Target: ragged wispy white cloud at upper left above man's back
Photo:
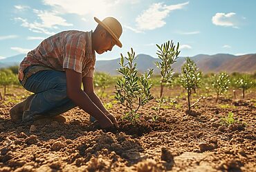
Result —
<path fill-rule="evenodd" d="M 21 21 L 21 26 L 28 28 L 32 32 L 44 33 L 44 34 L 55 34 L 49 31 L 49 29 L 57 29 L 58 25 L 71 26 L 73 24 L 67 23 L 66 19 L 57 16 L 55 12 L 48 12 L 42 10 L 33 10 L 41 22 L 34 21 L 33 23 L 28 22 L 27 19 L 22 19 L 21 17 L 15 18 L 16 21 Z"/>

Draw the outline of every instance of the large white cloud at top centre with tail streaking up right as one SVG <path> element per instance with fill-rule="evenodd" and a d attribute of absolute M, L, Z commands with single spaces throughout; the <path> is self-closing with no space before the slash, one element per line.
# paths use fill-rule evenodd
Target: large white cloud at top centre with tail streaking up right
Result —
<path fill-rule="evenodd" d="M 167 6 L 163 3 L 154 3 L 136 18 L 137 30 L 154 30 L 166 24 L 164 19 L 173 10 L 179 10 L 189 2 Z"/>

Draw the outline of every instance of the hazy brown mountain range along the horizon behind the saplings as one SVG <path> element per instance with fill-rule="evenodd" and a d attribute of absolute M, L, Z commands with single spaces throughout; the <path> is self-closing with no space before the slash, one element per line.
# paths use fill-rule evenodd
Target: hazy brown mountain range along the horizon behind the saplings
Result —
<path fill-rule="evenodd" d="M 8 58 L 0 59 L 0 68 L 9 67 L 12 65 L 19 65 L 26 54 L 18 54 L 16 56 L 10 56 Z M 232 54 L 198 54 L 191 57 L 196 63 L 201 72 L 241 72 L 241 73 L 254 73 L 256 72 L 256 54 L 244 54 L 241 56 L 235 56 Z M 147 54 L 138 54 L 136 63 L 139 72 L 145 72 L 147 69 L 154 69 L 154 73 L 159 73 L 157 69 L 156 61 L 160 61 L 159 58 L 154 58 Z M 172 65 L 174 72 L 181 72 L 181 66 L 185 61 L 185 57 L 179 57 Z M 116 75 L 118 72 L 116 69 L 120 67 L 118 64 L 120 58 L 116 58 L 108 61 L 96 61 L 96 72 L 107 72 L 111 75 Z"/>

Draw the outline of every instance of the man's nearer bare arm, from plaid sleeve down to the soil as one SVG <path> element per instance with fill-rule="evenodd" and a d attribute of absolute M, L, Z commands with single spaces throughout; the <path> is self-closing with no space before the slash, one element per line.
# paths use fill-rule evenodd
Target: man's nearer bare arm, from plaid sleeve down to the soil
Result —
<path fill-rule="evenodd" d="M 66 69 L 67 96 L 75 105 L 95 117 L 102 128 L 112 127 L 111 120 L 96 106 L 89 96 L 82 91 L 82 76 L 72 69 Z"/>

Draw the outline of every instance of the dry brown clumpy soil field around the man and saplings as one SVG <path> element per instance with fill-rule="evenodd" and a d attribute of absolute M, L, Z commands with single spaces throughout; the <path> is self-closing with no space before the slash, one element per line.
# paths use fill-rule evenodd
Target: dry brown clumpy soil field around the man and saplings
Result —
<path fill-rule="evenodd" d="M 256 171 L 255 88 L 242 100 L 241 91 L 235 99 L 230 89 L 218 103 L 212 92 L 198 89 L 192 102 L 204 97 L 190 114 L 185 90 L 165 88 L 154 121 L 160 87 L 153 87 L 155 98 L 138 111 L 136 125 L 122 120 L 125 108 L 113 91 L 112 85 L 102 95 L 120 126 L 111 133 L 91 125 L 78 107 L 64 114 L 65 123 L 41 119 L 15 125 L 8 111 L 30 93 L 9 87 L 0 102 L 0 171 Z M 225 125 L 228 114 L 235 122 Z"/>

